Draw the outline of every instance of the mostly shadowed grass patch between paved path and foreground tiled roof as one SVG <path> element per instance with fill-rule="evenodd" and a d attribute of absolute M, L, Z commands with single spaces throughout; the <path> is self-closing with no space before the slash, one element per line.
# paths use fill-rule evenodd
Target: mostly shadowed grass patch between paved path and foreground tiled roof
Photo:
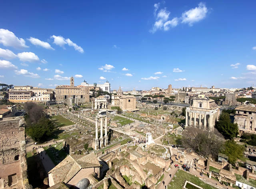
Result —
<path fill-rule="evenodd" d="M 57 146 L 54 147 L 55 145 Z M 60 161 L 65 159 L 67 154 L 66 154 L 66 151 L 62 148 L 63 147 L 62 142 L 57 143 L 55 145 L 46 146 L 44 147 L 44 150 L 47 152 L 48 156 L 52 159 L 53 163 L 57 165 L 58 163 L 60 163 Z"/>

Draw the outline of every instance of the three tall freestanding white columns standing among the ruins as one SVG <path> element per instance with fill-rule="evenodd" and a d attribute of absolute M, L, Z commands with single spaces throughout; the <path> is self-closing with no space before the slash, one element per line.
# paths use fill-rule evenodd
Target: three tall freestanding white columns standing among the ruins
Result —
<path fill-rule="evenodd" d="M 95 149 L 100 149 L 107 145 L 108 133 L 107 133 L 107 116 L 105 118 L 105 135 L 103 137 L 103 117 L 95 118 Z M 100 139 L 98 139 L 98 119 L 100 119 Z M 100 145 L 99 145 L 100 141 Z"/>

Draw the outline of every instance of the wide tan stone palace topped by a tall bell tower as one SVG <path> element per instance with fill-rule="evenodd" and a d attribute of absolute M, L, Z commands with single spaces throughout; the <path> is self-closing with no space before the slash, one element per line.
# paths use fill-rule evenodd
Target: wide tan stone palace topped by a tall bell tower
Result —
<path fill-rule="evenodd" d="M 74 86 L 74 78 L 70 78 L 70 86 L 57 86 L 56 101 L 68 103 L 70 99 L 78 99 L 78 103 L 90 102 L 89 88 L 86 86 Z M 74 102 L 73 102 L 74 103 Z"/>

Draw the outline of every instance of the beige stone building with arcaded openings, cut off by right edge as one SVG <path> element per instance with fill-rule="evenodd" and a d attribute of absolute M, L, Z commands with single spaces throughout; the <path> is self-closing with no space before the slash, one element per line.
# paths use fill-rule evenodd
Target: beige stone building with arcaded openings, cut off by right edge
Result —
<path fill-rule="evenodd" d="M 240 105 L 235 110 L 234 123 L 238 124 L 239 133 L 256 133 L 256 107 Z"/>

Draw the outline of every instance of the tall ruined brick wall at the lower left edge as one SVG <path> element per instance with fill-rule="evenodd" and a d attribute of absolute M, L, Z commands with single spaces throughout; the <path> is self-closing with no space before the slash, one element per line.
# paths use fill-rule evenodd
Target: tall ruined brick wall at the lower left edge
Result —
<path fill-rule="evenodd" d="M 23 117 L 0 121 L 0 189 L 28 189 Z"/>

